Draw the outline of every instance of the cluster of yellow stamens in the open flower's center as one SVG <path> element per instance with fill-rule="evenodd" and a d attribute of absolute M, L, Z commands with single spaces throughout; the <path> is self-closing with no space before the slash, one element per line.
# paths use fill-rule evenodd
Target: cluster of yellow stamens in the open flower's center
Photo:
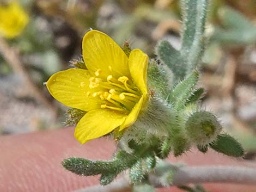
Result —
<path fill-rule="evenodd" d="M 99 97 L 105 100 L 102 109 L 113 109 L 122 112 L 129 112 L 141 98 L 136 86 L 126 76 L 114 78 L 112 75 L 106 79 L 99 78 L 101 70 L 95 72 L 95 77 L 89 78 L 89 88 L 92 91 L 87 92 L 88 97 Z M 97 88 L 97 91 L 95 91 Z"/>

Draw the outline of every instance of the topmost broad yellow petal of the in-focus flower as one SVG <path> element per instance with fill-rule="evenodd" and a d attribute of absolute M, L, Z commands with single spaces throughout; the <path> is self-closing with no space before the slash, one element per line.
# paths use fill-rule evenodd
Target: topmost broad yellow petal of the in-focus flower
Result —
<path fill-rule="evenodd" d="M 90 73 L 95 74 L 100 69 L 99 77 L 112 75 L 130 77 L 128 58 L 108 35 L 97 30 L 91 30 L 83 37 L 83 59 Z"/>

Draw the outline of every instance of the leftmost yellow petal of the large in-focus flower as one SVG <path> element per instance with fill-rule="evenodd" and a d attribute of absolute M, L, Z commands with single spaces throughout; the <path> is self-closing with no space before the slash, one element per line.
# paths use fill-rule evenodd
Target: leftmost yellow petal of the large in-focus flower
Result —
<path fill-rule="evenodd" d="M 100 109 L 105 102 L 99 97 L 88 97 L 90 74 L 88 70 L 69 69 L 59 71 L 47 81 L 50 94 L 59 102 L 68 107 L 89 111 Z M 96 88 L 94 91 L 99 91 Z"/>

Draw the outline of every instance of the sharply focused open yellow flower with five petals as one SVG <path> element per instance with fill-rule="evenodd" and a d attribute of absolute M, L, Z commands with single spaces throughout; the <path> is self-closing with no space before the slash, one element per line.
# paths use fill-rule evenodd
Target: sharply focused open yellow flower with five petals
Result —
<path fill-rule="evenodd" d="M 87 69 L 55 73 L 50 94 L 68 107 L 86 111 L 75 137 L 84 144 L 131 126 L 148 101 L 148 55 L 133 49 L 129 58 L 106 34 L 91 30 L 82 42 Z"/>

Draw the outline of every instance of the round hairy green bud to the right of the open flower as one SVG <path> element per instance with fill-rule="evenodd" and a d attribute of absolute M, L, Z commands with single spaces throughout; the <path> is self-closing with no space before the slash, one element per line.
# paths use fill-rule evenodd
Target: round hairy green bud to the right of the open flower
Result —
<path fill-rule="evenodd" d="M 207 145 L 217 138 L 222 130 L 221 124 L 210 112 L 193 113 L 186 122 L 186 132 L 191 143 Z"/>

